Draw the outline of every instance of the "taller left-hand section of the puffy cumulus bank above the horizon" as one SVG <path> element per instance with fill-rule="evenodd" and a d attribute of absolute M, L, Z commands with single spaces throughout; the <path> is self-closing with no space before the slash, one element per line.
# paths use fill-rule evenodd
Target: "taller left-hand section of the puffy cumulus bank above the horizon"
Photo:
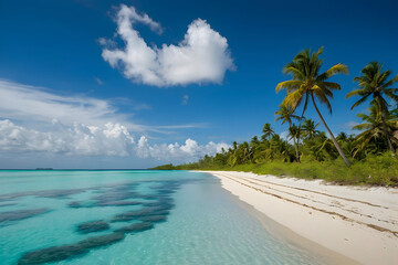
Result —
<path fill-rule="evenodd" d="M 74 124 L 65 126 L 54 120 L 50 131 L 17 126 L 9 119 L 0 120 L 0 150 L 12 152 L 39 151 L 72 156 L 119 156 L 133 152 L 133 136 L 119 124 L 102 127 Z"/>

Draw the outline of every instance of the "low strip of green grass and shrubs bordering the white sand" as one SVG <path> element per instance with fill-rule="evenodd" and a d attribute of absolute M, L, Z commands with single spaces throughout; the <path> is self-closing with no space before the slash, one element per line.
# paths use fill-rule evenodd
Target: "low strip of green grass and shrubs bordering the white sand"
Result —
<path fill-rule="evenodd" d="M 164 170 L 222 170 L 243 171 L 256 174 L 273 174 L 277 177 L 294 177 L 300 179 L 322 179 L 338 184 L 354 186 L 398 186 L 398 163 L 388 155 L 368 156 L 365 160 L 354 162 L 349 168 L 343 159 L 333 161 L 284 162 L 269 161 L 263 163 L 245 163 L 229 166 L 200 166 L 188 163 L 181 166 L 164 165 L 154 169 Z"/>

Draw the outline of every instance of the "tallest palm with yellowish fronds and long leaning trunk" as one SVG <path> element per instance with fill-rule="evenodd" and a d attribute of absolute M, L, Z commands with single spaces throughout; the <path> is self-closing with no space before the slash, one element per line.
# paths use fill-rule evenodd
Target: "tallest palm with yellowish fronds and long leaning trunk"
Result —
<path fill-rule="evenodd" d="M 345 157 L 342 148 L 338 146 L 337 140 L 332 134 L 332 130 L 327 126 L 315 103 L 316 97 L 321 103 L 326 105 L 332 114 L 332 105 L 329 103 L 329 98 L 333 98 L 332 91 L 339 91 L 341 86 L 337 83 L 327 82 L 327 78 L 336 74 L 347 74 L 348 68 L 344 64 L 336 64 L 326 72 L 320 74 L 323 60 L 320 60 L 318 56 L 322 54 L 322 51 L 323 47 L 321 47 L 317 52 L 311 52 L 310 49 L 306 49 L 295 55 L 293 61 L 286 64 L 283 68 L 285 74 L 292 74 L 292 80 L 279 83 L 276 85 L 276 93 L 281 89 L 286 89 L 286 97 L 284 98 L 283 104 L 291 106 L 293 109 L 296 109 L 301 103 L 304 102 L 303 115 L 307 108 L 308 98 L 311 97 L 315 110 L 331 135 L 332 141 L 338 153 L 342 156 L 346 165 L 350 166 L 350 162 Z"/>

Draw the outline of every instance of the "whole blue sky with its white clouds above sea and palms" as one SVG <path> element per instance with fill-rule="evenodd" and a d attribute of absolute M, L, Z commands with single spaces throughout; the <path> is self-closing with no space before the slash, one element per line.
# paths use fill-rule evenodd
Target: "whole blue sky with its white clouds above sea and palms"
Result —
<path fill-rule="evenodd" d="M 334 77 L 333 115 L 322 112 L 349 132 L 366 108 L 349 110 L 353 77 L 374 60 L 398 72 L 397 10 L 392 0 L 0 1 L 0 167 L 146 168 L 193 161 L 264 123 L 283 132 L 274 88 L 305 47 L 325 46 L 325 68 L 348 65 Z M 140 61 L 117 34 L 123 18 Z M 202 50 L 182 41 L 189 25 Z M 306 116 L 317 120 L 312 107 Z"/>

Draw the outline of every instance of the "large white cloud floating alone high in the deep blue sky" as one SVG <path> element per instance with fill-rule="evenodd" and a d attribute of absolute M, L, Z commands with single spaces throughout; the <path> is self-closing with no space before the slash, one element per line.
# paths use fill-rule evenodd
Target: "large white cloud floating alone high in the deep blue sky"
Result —
<path fill-rule="evenodd" d="M 136 83 L 171 86 L 201 83 L 221 84 L 227 70 L 234 70 L 227 39 L 211 29 L 206 20 L 197 19 L 178 45 L 148 46 L 135 30 L 143 23 L 161 33 L 159 23 L 146 13 L 138 14 L 134 7 L 121 6 L 116 15 L 117 34 L 125 42 L 115 49 L 112 40 L 100 39 L 102 56 L 112 67 Z"/>

